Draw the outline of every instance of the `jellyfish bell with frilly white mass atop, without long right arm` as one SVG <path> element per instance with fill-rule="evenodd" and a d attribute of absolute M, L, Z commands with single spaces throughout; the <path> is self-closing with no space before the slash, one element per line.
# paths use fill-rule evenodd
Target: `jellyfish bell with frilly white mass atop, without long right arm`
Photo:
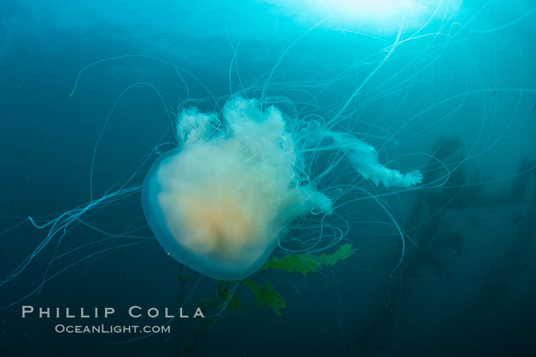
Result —
<path fill-rule="evenodd" d="M 184 145 L 162 155 L 145 178 L 144 212 L 162 247 L 213 278 L 255 272 L 289 217 L 313 208 L 292 187 L 295 154 L 281 112 L 262 113 L 256 104 L 228 102 L 229 131 L 212 137 L 215 116 L 184 111 L 177 122 Z"/>

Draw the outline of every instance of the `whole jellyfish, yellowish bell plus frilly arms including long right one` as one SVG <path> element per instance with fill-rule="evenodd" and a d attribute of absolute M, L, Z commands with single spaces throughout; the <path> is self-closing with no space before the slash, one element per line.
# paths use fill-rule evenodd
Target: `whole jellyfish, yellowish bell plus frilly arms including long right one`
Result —
<path fill-rule="evenodd" d="M 420 171 L 400 173 L 378 162 L 376 149 L 318 121 L 287 118 L 274 106 L 234 97 L 216 113 L 185 109 L 179 147 L 161 155 L 143 185 L 148 225 L 177 261 L 206 276 L 235 280 L 257 271 L 296 218 L 331 215 L 332 199 L 316 189 L 304 154 L 342 151 L 376 186 L 411 187 Z"/>

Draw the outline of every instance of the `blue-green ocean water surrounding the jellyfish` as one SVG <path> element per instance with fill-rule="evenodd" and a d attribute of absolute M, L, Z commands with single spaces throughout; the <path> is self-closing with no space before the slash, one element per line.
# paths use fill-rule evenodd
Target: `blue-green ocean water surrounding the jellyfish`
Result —
<path fill-rule="evenodd" d="M 535 9 L 530 0 L 4 0 L 0 353 L 534 355 Z M 178 112 L 220 115 L 237 94 L 279 98 L 303 123 L 337 117 L 333 130 L 424 177 L 412 189 L 359 180 L 367 194 L 338 201 L 330 223 L 347 232 L 317 228 L 325 249 L 309 252 L 352 244 L 354 254 L 306 275 L 257 272 L 264 300 L 169 257 L 140 203 L 151 163 L 176 146 Z M 318 155 L 316 170 L 344 157 Z M 356 176 L 335 171 L 324 188 Z M 285 301 L 280 315 L 265 284 Z M 35 311 L 23 318 L 23 306 Z M 142 317 L 129 316 L 132 306 Z M 198 306 L 205 319 L 192 318 Z M 104 318 L 107 307 L 115 313 Z M 181 307 L 190 318 L 163 316 Z"/>

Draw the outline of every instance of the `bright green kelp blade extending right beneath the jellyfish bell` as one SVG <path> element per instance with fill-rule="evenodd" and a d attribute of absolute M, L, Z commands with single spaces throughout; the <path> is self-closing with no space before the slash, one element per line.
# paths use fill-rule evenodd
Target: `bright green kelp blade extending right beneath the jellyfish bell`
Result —
<path fill-rule="evenodd" d="M 333 254 L 285 255 L 281 259 L 272 257 L 272 259 L 264 263 L 262 269 L 279 269 L 289 272 L 297 271 L 306 275 L 307 273 L 317 271 L 321 265 L 334 265 L 339 260 L 345 260 L 347 257 L 353 255 L 355 251 L 356 249 L 352 249 L 352 244 L 347 243 Z"/>

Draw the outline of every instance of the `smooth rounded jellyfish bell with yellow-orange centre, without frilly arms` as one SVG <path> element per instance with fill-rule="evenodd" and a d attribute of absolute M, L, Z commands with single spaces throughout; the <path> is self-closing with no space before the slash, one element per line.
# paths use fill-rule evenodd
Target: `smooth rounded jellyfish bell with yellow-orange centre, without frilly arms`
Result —
<path fill-rule="evenodd" d="M 155 161 L 143 187 L 144 212 L 177 261 L 213 278 L 240 279 L 268 259 L 277 241 L 263 217 L 254 217 L 267 207 L 257 206 L 258 183 L 247 181 L 243 169 L 217 146 L 203 144 L 170 150 Z"/>

